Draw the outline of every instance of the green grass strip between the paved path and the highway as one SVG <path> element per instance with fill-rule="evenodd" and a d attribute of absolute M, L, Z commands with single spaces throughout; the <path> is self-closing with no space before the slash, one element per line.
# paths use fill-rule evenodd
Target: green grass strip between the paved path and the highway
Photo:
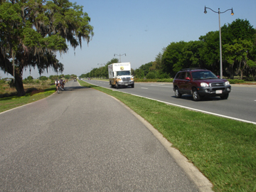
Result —
<path fill-rule="evenodd" d="M 256 125 L 194 112 L 80 81 L 124 102 L 213 183 L 214 191 L 256 191 Z"/>

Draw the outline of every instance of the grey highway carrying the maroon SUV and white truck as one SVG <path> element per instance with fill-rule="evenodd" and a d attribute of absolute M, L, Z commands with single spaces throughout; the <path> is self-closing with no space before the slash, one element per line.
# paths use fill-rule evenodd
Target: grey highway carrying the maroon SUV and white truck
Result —
<path fill-rule="evenodd" d="M 85 81 L 93 85 L 110 88 L 107 81 Z M 116 88 L 110 89 L 117 90 Z M 256 124 L 256 85 L 231 85 L 228 100 L 220 100 L 220 97 L 210 97 L 199 102 L 194 102 L 191 95 L 182 95 L 181 99 L 177 99 L 174 96 L 172 83 L 137 82 L 134 88 L 121 88 L 118 91 Z"/>

